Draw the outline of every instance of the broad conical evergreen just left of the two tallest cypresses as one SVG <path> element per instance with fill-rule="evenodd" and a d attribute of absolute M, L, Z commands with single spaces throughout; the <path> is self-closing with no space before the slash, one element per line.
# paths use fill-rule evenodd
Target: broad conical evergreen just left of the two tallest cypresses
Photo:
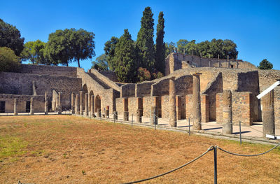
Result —
<path fill-rule="evenodd" d="M 113 61 L 116 64 L 116 75 L 120 82 L 133 83 L 135 82 L 137 74 L 137 65 L 134 62 L 136 58 L 134 41 L 132 41 L 131 35 L 127 29 L 123 36 L 116 45 L 115 57 Z"/>

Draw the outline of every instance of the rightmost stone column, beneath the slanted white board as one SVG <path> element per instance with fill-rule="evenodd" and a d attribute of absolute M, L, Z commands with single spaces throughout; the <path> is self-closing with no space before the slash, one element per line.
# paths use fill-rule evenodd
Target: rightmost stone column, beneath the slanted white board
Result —
<path fill-rule="evenodd" d="M 275 135 L 274 90 L 262 97 L 262 136 Z"/>

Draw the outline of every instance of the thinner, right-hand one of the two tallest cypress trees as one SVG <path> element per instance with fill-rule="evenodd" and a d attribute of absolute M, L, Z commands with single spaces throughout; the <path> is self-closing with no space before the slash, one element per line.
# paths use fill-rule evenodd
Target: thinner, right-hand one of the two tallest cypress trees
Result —
<path fill-rule="evenodd" d="M 162 11 L 158 15 L 157 38 L 155 40 L 155 69 L 165 73 L 165 19 Z"/>

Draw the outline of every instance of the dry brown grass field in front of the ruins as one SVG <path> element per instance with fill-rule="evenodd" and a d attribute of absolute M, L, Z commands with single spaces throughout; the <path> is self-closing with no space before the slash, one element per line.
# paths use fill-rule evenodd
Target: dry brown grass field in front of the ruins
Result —
<path fill-rule="evenodd" d="M 124 183 L 179 167 L 212 145 L 244 154 L 272 148 L 69 115 L 0 117 L 0 183 Z M 214 183 L 214 152 L 146 183 Z M 258 157 L 218 150 L 218 183 L 280 183 L 279 148 Z"/>

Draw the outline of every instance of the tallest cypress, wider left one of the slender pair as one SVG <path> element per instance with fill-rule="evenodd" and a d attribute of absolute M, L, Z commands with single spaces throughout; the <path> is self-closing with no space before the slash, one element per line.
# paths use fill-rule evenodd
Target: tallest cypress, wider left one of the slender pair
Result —
<path fill-rule="evenodd" d="M 153 43 L 153 13 L 146 7 L 141 18 L 141 28 L 137 35 L 137 49 L 139 50 L 139 65 L 152 71 L 155 66 L 155 47 Z"/>

